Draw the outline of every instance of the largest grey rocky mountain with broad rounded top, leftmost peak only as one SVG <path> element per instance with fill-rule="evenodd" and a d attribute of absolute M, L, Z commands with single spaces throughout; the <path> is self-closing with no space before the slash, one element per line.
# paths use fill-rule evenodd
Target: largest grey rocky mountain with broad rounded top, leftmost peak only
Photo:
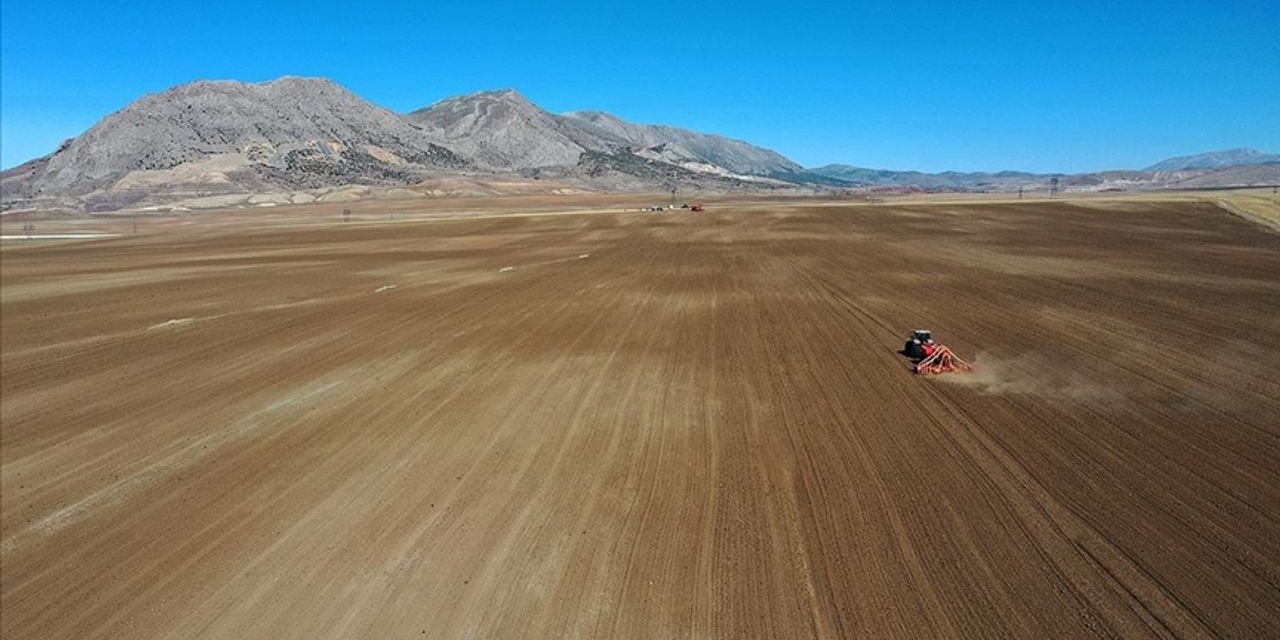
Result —
<path fill-rule="evenodd" d="M 118 209 L 164 196 L 402 184 L 467 161 L 326 79 L 195 82 L 143 96 L 4 173 L 4 200 Z"/>

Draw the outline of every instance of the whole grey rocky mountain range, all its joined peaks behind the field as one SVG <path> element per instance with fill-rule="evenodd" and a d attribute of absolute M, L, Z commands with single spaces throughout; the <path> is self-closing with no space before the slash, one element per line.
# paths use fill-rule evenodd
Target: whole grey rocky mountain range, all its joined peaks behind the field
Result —
<path fill-rule="evenodd" d="M 4 209 L 285 204 L 352 186 L 520 191 L 796 188 L 777 152 L 602 113 L 557 115 L 515 91 L 396 114 L 319 78 L 195 82 L 143 96 L 0 174 Z M 457 179 L 456 179 L 457 178 Z M 524 180 L 524 182 L 521 182 Z M 550 184 L 557 180 L 557 184 Z M 233 195 L 243 196 L 241 198 Z"/>

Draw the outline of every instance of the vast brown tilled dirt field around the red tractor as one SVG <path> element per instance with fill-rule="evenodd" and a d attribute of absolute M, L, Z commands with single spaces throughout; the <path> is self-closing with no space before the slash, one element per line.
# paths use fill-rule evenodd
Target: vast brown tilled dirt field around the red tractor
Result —
<path fill-rule="evenodd" d="M 1280 635 L 1213 206 L 271 216 L 0 250 L 5 639 Z"/>

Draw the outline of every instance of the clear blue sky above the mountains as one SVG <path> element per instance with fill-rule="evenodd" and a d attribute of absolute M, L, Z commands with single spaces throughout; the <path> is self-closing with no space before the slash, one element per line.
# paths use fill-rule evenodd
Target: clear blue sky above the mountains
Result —
<path fill-rule="evenodd" d="M 323 76 L 392 110 L 515 87 L 553 111 L 804 165 L 1084 172 L 1280 152 L 1280 1 L 4 0 L 4 166 L 147 92 Z"/>

